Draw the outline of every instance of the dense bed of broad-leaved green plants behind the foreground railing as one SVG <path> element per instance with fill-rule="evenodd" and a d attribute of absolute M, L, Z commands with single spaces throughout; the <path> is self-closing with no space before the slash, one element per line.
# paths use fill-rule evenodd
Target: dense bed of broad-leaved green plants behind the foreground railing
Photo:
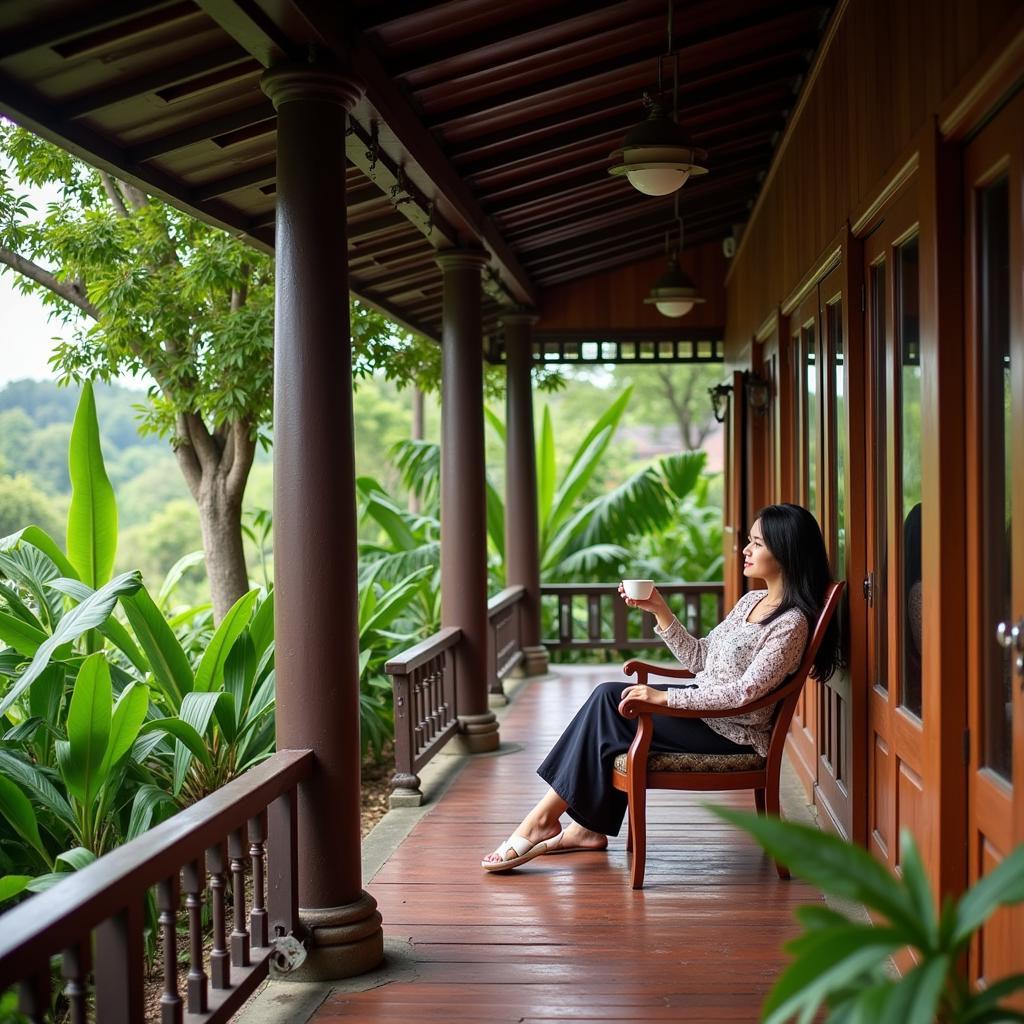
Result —
<path fill-rule="evenodd" d="M 89 384 L 69 464 L 67 553 L 34 525 L 0 540 L 4 898 L 52 884 L 273 750 L 272 599 L 243 595 L 190 659 L 139 574 L 111 579 L 117 506 Z"/>

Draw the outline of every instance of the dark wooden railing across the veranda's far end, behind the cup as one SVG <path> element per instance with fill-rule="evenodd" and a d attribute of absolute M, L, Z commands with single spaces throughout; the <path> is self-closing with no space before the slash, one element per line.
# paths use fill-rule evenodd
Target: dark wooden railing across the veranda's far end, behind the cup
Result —
<path fill-rule="evenodd" d="M 694 636 L 702 636 L 724 615 L 723 586 L 720 583 L 658 584 L 658 591 L 680 622 Z M 654 616 L 630 608 L 618 596 L 618 584 L 543 584 L 542 622 L 554 622 L 557 636 L 546 637 L 550 651 L 636 650 L 656 647 Z M 555 605 L 552 609 L 551 605 Z M 630 617 L 640 616 L 639 630 L 630 630 Z M 637 635 L 639 634 L 639 635 Z"/>

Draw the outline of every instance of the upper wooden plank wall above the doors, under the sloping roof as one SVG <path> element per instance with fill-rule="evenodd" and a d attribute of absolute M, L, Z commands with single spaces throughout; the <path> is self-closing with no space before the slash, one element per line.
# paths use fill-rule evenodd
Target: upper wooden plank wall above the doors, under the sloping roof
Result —
<path fill-rule="evenodd" d="M 748 365 L 765 316 L 1022 11 L 1020 0 L 839 5 L 727 278 L 729 362 Z"/>

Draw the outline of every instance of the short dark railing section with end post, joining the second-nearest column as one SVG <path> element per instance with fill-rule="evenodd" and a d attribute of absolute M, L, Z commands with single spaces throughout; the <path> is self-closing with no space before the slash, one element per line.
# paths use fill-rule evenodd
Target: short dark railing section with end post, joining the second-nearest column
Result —
<path fill-rule="evenodd" d="M 384 666 L 394 687 L 392 807 L 423 802 L 417 773 L 458 731 L 452 649 L 461 639 L 447 627 Z"/>

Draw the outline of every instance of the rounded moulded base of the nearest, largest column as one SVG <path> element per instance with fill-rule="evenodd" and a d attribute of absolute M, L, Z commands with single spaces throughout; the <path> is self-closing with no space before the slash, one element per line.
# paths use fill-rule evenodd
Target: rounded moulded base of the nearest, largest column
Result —
<path fill-rule="evenodd" d="M 337 981 L 373 971 L 384 959 L 384 932 L 377 900 L 369 893 L 344 906 L 299 908 L 306 959 L 288 981 Z"/>

